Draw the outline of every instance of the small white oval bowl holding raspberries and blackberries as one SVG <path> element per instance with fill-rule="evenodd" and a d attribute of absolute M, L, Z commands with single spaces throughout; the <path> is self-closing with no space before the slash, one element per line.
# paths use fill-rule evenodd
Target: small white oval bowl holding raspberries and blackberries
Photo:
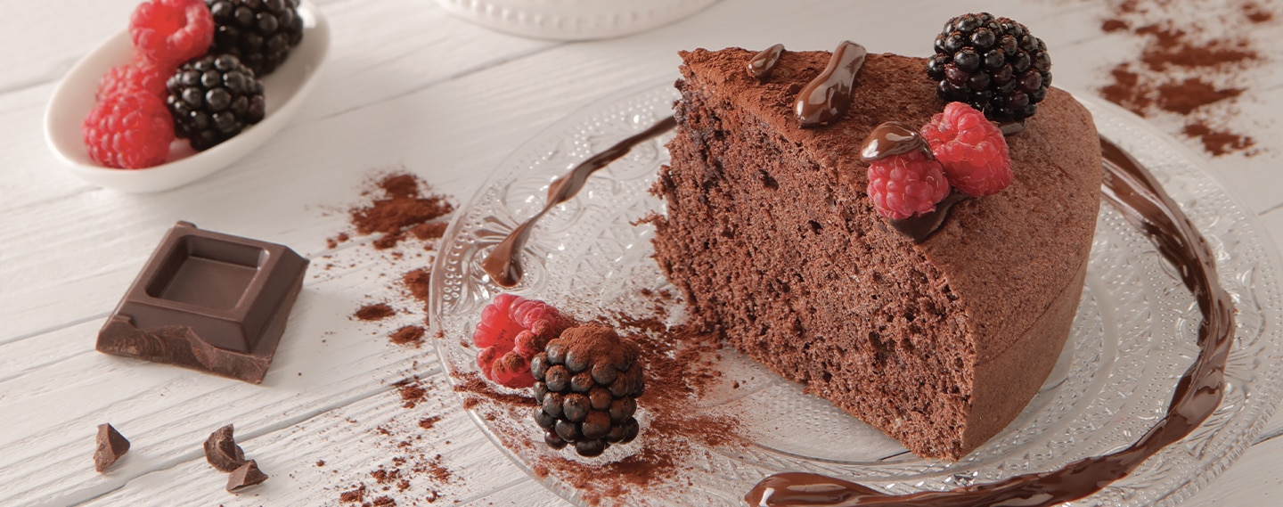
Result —
<path fill-rule="evenodd" d="M 285 63 L 263 80 L 266 116 L 236 137 L 199 153 L 187 145 L 187 140 L 176 140 L 166 163 L 144 169 L 109 168 L 91 160 L 81 123 L 94 108 L 94 94 L 103 74 L 130 62 L 132 45 L 126 30 L 77 62 L 63 77 L 45 110 L 45 141 L 76 176 L 123 193 L 169 190 L 218 172 L 280 131 L 316 86 L 316 76 L 330 50 L 330 26 L 316 5 L 307 1 L 299 4 L 299 17 L 303 18 L 303 41 L 290 50 Z"/>

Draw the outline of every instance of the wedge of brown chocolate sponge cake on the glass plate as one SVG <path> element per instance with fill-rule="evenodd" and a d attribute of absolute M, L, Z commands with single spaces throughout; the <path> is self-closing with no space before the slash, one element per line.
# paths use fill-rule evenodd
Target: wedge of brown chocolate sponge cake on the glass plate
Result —
<path fill-rule="evenodd" d="M 1091 116 L 1049 90 L 1007 137 L 1011 186 L 916 243 L 876 214 L 860 149 L 944 108 L 925 60 L 870 54 L 852 109 L 799 128 L 794 100 L 830 54 L 785 51 L 761 81 L 753 56 L 681 54 L 656 261 L 694 323 L 913 453 L 961 458 L 1020 413 L 1069 335 L 1100 204 Z"/>

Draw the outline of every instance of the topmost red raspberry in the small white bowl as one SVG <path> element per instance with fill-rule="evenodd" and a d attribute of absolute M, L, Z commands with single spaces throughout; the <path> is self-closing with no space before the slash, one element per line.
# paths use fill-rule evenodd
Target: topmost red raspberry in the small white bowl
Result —
<path fill-rule="evenodd" d="M 160 68 L 200 56 L 214 41 L 214 17 L 201 0 L 148 0 L 130 17 L 130 39 Z"/>

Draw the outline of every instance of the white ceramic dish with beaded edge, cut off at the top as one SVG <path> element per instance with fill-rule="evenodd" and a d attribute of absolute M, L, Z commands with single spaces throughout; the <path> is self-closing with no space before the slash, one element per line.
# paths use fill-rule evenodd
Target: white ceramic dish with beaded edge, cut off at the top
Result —
<path fill-rule="evenodd" d="M 446 12 L 522 37 L 618 37 L 668 24 L 717 0 L 436 0 Z"/>

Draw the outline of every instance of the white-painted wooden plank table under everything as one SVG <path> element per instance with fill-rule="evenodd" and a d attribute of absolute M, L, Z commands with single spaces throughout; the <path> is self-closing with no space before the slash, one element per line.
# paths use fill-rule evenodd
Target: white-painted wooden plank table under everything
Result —
<path fill-rule="evenodd" d="M 1093 92 L 1114 64 L 1138 51 L 1134 39 L 1103 33 L 1105 8 L 1085 1 L 724 0 L 650 32 L 567 44 L 479 28 L 431 0 L 316 0 L 334 39 L 325 81 L 303 112 L 271 144 L 213 177 L 126 195 L 65 171 L 44 144 L 41 121 L 69 65 L 122 30 L 135 4 L 0 0 L 3 506 L 339 504 L 341 492 L 362 483 L 367 502 L 389 494 L 402 506 L 426 504 L 429 490 L 445 504 L 565 504 L 464 416 L 431 347 L 390 344 L 393 323 L 349 317 L 366 303 L 405 300 L 394 280 L 403 268 L 385 272 L 387 259 L 368 248 L 328 249 L 325 241 L 350 230 L 344 211 L 361 203 L 377 169 L 402 167 L 462 204 L 504 155 L 549 123 L 618 90 L 675 77 L 679 49 L 831 49 L 851 39 L 874 51 L 925 55 L 944 19 L 984 9 L 1047 41 L 1057 86 Z M 1283 54 L 1283 19 L 1245 30 L 1264 54 Z M 1255 130 L 1260 153 L 1211 159 L 1215 176 L 1274 237 L 1283 237 L 1280 68 L 1268 64 L 1237 83 L 1246 91 L 1234 121 Z M 1150 121 L 1202 149 L 1179 136 L 1179 116 Z M 313 259 L 262 385 L 94 352 L 104 318 L 178 219 L 284 243 Z M 399 323 L 422 318 L 420 308 L 398 305 Z M 416 375 L 427 397 L 405 409 L 393 382 Z M 441 418 L 420 429 L 431 416 Z M 105 475 L 90 460 L 101 422 L 133 443 Z M 241 495 L 223 492 L 226 475 L 200 452 L 227 422 L 272 476 Z M 1189 504 L 1283 504 L 1280 433 L 1283 416 L 1275 416 Z M 440 453 L 452 477 L 420 475 L 405 492 L 378 490 L 370 474 L 408 456 L 396 447 L 405 439 L 429 449 L 427 458 Z"/>

